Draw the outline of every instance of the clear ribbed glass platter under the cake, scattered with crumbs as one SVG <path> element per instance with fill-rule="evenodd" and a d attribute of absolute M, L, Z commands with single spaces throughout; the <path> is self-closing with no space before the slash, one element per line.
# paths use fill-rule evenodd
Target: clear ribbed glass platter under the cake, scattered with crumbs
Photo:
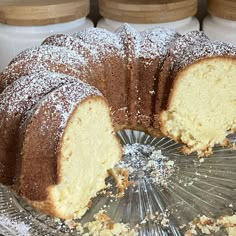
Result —
<path fill-rule="evenodd" d="M 99 210 L 114 223 L 127 223 L 139 235 L 184 235 L 196 217 L 216 219 L 236 212 L 236 150 L 215 147 L 209 158 L 184 156 L 181 145 L 123 130 L 118 137 L 124 155 L 118 167 L 129 170 L 129 186 L 122 197 L 109 177 L 109 188 L 92 200 L 82 224 Z M 229 136 L 235 145 L 236 135 Z M 107 193 L 110 194 L 107 194 Z M 185 227 L 186 226 L 186 227 Z M 197 235 L 204 235 L 196 228 Z M 80 235 L 62 221 L 40 214 L 8 188 L 0 185 L 0 234 Z M 125 235 L 125 234 L 124 234 Z M 225 228 L 212 235 L 227 235 Z"/>

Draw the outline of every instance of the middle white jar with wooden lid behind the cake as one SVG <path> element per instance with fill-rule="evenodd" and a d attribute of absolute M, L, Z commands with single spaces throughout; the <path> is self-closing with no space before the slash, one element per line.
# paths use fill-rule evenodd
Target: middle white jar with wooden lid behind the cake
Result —
<path fill-rule="evenodd" d="M 180 33 L 199 30 L 197 0 L 99 0 L 103 18 L 97 27 L 110 31 L 129 23 L 139 31 L 164 26 Z"/>

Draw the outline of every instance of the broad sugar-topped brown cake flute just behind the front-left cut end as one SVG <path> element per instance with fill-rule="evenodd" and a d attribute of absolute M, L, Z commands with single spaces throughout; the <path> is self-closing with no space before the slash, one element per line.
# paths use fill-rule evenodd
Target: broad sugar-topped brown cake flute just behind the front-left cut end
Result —
<path fill-rule="evenodd" d="M 91 58 L 92 62 L 91 71 L 95 74 L 94 79 L 97 79 L 89 83 L 97 87 L 111 104 L 114 122 L 126 124 L 129 115 L 127 110 L 129 70 L 126 63 L 126 46 L 122 43 L 119 33 L 89 28 L 78 32 L 75 36 L 84 42 L 90 52 L 88 58 Z"/>

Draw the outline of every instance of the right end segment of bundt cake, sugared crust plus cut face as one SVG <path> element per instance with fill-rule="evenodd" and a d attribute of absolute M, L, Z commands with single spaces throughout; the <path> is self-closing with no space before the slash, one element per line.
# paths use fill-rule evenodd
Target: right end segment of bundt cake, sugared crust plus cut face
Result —
<path fill-rule="evenodd" d="M 176 40 L 170 59 L 161 131 L 183 142 L 185 153 L 209 155 L 236 130 L 236 48 L 196 31 Z"/>

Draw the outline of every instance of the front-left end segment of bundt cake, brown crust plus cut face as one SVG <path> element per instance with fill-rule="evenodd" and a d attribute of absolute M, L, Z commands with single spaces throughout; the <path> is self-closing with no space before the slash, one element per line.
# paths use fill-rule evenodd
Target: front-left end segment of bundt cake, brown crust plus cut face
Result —
<path fill-rule="evenodd" d="M 19 194 L 55 217 L 82 216 L 122 154 L 104 97 L 84 83 L 64 85 L 40 100 L 20 130 Z"/>

